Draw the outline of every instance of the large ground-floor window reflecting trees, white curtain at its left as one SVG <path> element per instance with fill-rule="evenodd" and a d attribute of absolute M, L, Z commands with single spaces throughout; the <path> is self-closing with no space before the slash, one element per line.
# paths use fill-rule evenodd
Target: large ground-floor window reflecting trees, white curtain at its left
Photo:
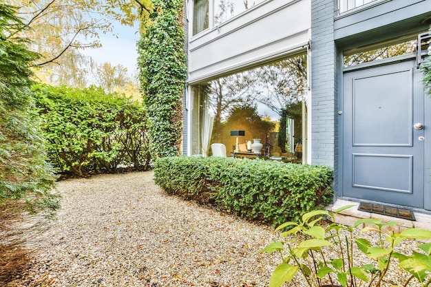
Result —
<path fill-rule="evenodd" d="M 211 156 L 211 144 L 222 143 L 233 155 L 231 131 L 244 131 L 241 152 L 258 139 L 262 157 L 300 162 L 306 78 L 306 54 L 299 54 L 193 86 L 192 153 Z"/>

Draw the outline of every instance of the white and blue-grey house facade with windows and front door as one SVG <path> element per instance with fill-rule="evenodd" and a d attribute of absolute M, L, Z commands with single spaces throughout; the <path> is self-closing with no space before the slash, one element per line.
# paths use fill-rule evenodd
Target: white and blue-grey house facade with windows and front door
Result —
<path fill-rule="evenodd" d="M 431 211 L 431 0 L 189 0 L 187 19 L 185 154 L 243 130 L 332 167 L 335 200 Z"/>

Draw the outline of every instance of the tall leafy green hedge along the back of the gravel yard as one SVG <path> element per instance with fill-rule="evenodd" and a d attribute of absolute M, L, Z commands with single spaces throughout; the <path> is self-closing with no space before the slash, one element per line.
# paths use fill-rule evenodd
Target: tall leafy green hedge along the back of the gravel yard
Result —
<path fill-rule="evenodd" d="M 61 171 L 86 176 L 119 164 L 149 168 L 145 112 L 129 98 L 103 89 L 34 86 L 50 158 Z"/>

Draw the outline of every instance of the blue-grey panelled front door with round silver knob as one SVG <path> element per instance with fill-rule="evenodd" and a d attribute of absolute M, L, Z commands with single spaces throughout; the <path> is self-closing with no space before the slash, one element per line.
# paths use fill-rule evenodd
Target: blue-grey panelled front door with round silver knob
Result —
<path fill-rule="evenodd" d="M 431 209 L 431 105 L 415 62 L 344 72 L 343 89 L 342 195 Z"/>

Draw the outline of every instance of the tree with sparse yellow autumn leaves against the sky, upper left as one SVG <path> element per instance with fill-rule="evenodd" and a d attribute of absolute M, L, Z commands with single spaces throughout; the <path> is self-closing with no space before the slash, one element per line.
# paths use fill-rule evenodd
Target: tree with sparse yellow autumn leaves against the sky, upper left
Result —
<path fill-rule="evenodd" d="M 80 53 L 101 47 L 99 35 L 112 33 L 112 23 L 134 25 L 147 19 L 151 0 L 8 0 L 30 29 L 17 31 L 30 50 L 41 54 L 39 81 L 84 88 L 93 61 Z"/>

